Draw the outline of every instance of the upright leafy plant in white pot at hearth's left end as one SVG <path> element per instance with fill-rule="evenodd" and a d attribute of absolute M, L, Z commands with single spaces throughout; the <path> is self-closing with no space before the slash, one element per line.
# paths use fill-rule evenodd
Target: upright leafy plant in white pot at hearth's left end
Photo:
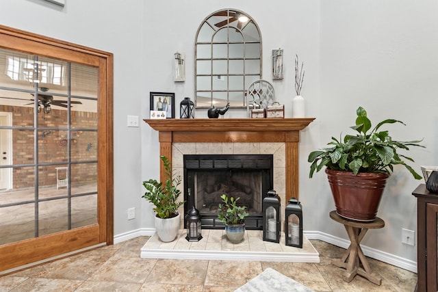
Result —
<path fill-rule="evenodd" d="M 184 201 L 178 202 L 181 191 L 178 185 L 181 183 L 181 176 L 172 178 L 170 163 L 165 156 L 159 157 L 164 164 L 164 174 L 166 181 L 158 182 L 155 179 L 144 181 L 143 185 L 146 192 L 142 196 L 154 204 L 155 208 L 155 228 L 159 239 L 164 242 L 173 241 L 178 235 L 180 217 L 178 208 L 184 204 Z"/>

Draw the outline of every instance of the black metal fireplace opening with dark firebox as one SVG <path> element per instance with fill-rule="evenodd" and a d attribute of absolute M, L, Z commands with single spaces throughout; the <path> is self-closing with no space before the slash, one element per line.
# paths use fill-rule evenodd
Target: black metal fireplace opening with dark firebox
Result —
<path fill-rule="evenodd" d="M 224 228 L 217 216 L 226 194 L 247 207 L 247 229 L 263 229 L 261 202 L 273 189 L 273 155 L 183 155 L 183 163 L 184 212 L 196 207 L 202 228 Z"/>

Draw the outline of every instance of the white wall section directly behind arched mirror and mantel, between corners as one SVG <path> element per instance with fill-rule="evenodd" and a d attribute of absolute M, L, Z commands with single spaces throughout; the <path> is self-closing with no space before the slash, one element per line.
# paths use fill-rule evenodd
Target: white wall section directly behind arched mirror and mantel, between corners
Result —
<path fill-rule="evenodd" d="M 175 116 L 179 118 L 179 103 L 183 97 L 194 99 L 194 41 L 198 26 L 203 23 L 209 14 L 224 8 L 241 10 L 251 16 L 261 32 L 263 43 L 263 79 L 274 86 L 276 100 L 285 104 L 285 115 L 292 116 L 292 98 L 296 95 L 294 89 L 295 69 L 294 58 L 297 53 L 305 62 L 306 76 L 302 88 L 302 95 L 307 98 L 309 105 L 318 103 L 319 94 L 319 70 L 320 70 L 320 1 L 189 1 L 193 3 L 181 5 L 180 1 L 151 1 L 144 6 L 144 15 L 147 23 L 144 29 L 145 40 L 144 54 L 150 56 L 146 61 L 145 76 L 142 86 L 143 96 L 151 91 L 175 92 L 176 104 Z M 279 3 L 279 5 L 275 5 Z M 196 9 L 194 9 L 196 7 Z M 281 9 L 278 9 L 278 8 Z M 165 12 L 165 19 L 162 13 Z M 164 23 L 165 25 L 157 25 Z M 285 55 L 285 79 L 272 81 L 272 49 L 284 49 Z M 175 83 L 172 81 L 172 56 L 179 51 L 185 53 L 185 82 Z M 161 69 L 164 67 L 164 70 Z M 149 98 L 142 99 L 144 118 L 148 117 Z M 317 107 L 310 107 L 309 116 L 317 114 Z M 246 117 L 246 109 L 229 109 L 225 118 Z M 195 111 L 195 118 L 207 118 L 207 109 Z M 317 140 L 318 133 L 309 127 L 302 132 L 300 150 L 303 155 L 300 163 L 304 170 L 300 173 L 300 180 L 307 181 L 308 167 L 307 155 L 311 148 L 307 146 L 312 140 Z M 158 134 L 147 124 L 142 127 L 142 178 L 157 178 L 159 164 Z M 311 144 L 310 144 L 311 145 Z M 312 145 L 313 146 L 313 145 Z M 153 167 L 151 167 L 153 165 Z M 314 183 L 314 182 L 313 182 Z M 308 183 L 311 185 L 311 182 Z M 305 194 L 305 192 L 303 192 Z M 305 197 L 303 195 L 303 197 Z M 303 200 L 303 204 L 310 202 Z M 144 208 L 149 208 L 146 202 Z M 311 230 L 318 228 L 318 222 L 314 217 L 306 217 L 307 226 Z M 142 226 L 153 226 L 153 215 L 145 215 L 142 218 Z"/>

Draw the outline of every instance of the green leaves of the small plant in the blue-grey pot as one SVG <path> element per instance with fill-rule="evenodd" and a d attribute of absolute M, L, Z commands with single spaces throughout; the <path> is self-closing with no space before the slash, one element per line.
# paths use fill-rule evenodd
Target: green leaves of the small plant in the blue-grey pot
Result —
<path fill-rule="evenodd" d="M 245 222 L 245 217 L 249 215 L 246 212 L 246 207 L 237 206 L 237 200 L 233 197 L 228 198 L 227 195 L 223 194 L 220 196 L 223 204 L 219 204 L 218 218 L 223 224 L 243 224 Z"/>

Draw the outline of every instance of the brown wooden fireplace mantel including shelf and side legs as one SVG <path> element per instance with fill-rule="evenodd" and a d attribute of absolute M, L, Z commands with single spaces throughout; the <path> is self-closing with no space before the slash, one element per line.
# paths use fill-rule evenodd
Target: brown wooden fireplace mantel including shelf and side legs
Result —
<path fill-rule="evenodd" d="M 144 122 L 159 131 L 160 155 L 172 161 L 172 143 L 284 142 L 286 200 L 298 198 L 298 142 L 300 131 L 315 118 L 166 119 Z M 165 180 L 163 165 L 160 179 Z"/>

